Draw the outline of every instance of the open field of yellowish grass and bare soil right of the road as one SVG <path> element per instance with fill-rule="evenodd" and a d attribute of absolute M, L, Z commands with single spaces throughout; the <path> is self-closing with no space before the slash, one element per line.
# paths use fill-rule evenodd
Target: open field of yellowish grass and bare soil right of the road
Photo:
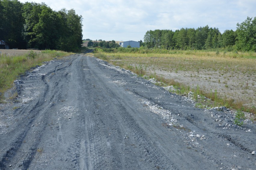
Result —
<path fill-rule="evenodd" d="M 96 56 L 148 76 L 200 88 L 209 98 L 218 96 L 236 109 L 256 106 L 256 53 L 173 51 L 173 54 L 97 53 Z M 170 84 L 172 85 L 172 84 Z M 222 104 L 225 104 L 225 102 Z M 236 107 L 237 106 L 237 107 Z"/>

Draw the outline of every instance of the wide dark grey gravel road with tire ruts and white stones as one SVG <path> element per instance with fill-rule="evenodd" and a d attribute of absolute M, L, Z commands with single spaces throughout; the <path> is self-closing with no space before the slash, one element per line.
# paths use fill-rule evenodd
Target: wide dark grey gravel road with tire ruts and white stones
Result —
<path fill-rule="evenodd" d="M 45 63 L 0 104 L 0 169 L 255 170 L 256 126 L 84 55 Z"/>

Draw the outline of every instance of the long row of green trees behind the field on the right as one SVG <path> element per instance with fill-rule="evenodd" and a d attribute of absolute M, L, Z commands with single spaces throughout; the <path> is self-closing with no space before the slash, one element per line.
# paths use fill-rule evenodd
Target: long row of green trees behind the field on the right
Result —
<path fill-rule="evenodd" d="M 236 31 L 204 27 L 181 28 L 180 30 L 150 30 L 144 36 L 144 46 L 161 49 L 216 49 L 229 48 L 241 51 L 256 51 L 256 17 L 247 17 L 237 23 Z"/>

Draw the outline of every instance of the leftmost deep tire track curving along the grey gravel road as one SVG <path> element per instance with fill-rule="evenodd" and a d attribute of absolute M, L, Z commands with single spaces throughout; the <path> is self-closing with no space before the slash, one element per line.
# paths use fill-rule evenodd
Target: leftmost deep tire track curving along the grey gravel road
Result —
<path fill-rule="evenodd" d="M 57 67 L 59 67 L 59 65 L 56 66 L 55 70 L 61 70 L 57 69 Z M 65 67 L 67 66 L 64 66 L 63 68 Z M 49 118 L 47 110 L 50 110 L 51 108 L 51 105 L 47 105 L 45 101 L 47 101 L 47 99 L 49 98 L 50 100 L 54 98 L 54 95 L 56 94 L 55 92 L 50 93 L 50 89 L 51 91 L 54 91 L 53 89 L 56 86 L 58 86 L 58 82 L 56 82 L 55 85 L 53 85 L 53 87 L 50 87 L 50 84 L 46 80 L 48 77 L 51 76 L 51 73 L 55 73 L 55 71 L 49 72 L 47 74 L 48 76 L 41 76 L 40 81 L 42 82 L 42 84 L 44 84 L 44 88 L 41 92 L 42 95 L 40 95 L 36 102 L 33 101 L 33 103 L 35 104 L 32 106 L 32 108 L 30 106 L 31 109 L 28 111 L 28 114 L 26 114 L 26 117 L 28 119 L 26 120 L 23 118 L 23 120 L 25 120 L 26 123 L 21 123 L 18 126 L 20 127 L 20 132 L 16 133 L 13 142 L 9 144 L 9 146 L 11 146 L 10 149 L 8 149 L 6 151 L 6 154 L 2 156 L 2 160 L 0 163 L 1 169 L 13 169 L 14 167 L 27 169 L 29 168 L 30 163 L 32 162 L 36 153 L 38 152 L 37 150 L 38 144 L 41 141 L 41 134 L 44 132 L 45 127 L 47 127 L 48 124 L 48 121 L 45 121 L 45 119 Z M 35 127 L 35 125 L 38 123 L 41 123 L 41 125 L 37 127 L 36 131 L 33 131 L 32 128 Z M 29 141 L 34 142 L 28 143 Z M 19 158 L 23 159 L 20 160 Z"/>

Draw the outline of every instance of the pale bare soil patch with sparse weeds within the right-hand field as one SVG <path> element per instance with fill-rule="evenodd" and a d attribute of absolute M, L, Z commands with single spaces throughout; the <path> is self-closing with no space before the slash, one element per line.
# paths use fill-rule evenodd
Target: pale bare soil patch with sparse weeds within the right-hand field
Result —
<path fill-rule="evenodd" d="M 194 71 L 177 71 L 175 73 L 160 69 L 154 69 L 154 71 L 166 79 L 174 79 L 193 88 L 199 86 L 204 91 L 213 93 L 216 90 L 219 95 L 233 99 L 234 102 L 244 100 L 247 106 L 256 106 L 255 75 L 232 71 L 223 74 L 220 71 L 209 70 L 201 70 L 200 73 Z"/>

